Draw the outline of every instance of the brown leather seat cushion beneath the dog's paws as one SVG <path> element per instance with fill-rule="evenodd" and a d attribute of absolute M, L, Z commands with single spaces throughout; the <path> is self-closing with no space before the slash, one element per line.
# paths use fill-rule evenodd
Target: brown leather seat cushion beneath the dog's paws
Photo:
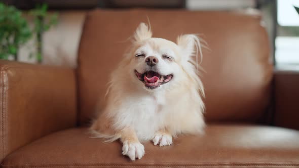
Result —
<path fill-rule="evenodd" d="M 144 143 L 130 161 L 119 142 L 90 138 L 87 128 L 60 131 L 7 156 L 3 167 L 299 167 L 299 131 L 258 125 L 208 125 L 203 136 L 181 136 L 172 146 Z"/>

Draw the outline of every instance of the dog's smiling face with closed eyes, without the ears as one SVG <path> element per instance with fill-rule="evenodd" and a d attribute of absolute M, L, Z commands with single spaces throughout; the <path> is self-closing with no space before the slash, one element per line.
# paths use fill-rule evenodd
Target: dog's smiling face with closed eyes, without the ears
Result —
<path fill-rule="evenodd" d="M 136 77 L 146 89 L 157 89 L 178 77 L 181 69 L 178 47 L 163 38 L 149 38 L 136 46 L 132 55 Z"/>

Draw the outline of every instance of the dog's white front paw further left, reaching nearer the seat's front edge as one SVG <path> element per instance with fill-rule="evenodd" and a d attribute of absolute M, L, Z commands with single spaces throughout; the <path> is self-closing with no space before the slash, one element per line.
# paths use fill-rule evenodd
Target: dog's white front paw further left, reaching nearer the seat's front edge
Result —
<path fill-rule="evenodd" d="M 144 155 L 144 146 L 140 142 L 131 143 L 125 141 L 122 154 L 127 155 L 131 160 L 135 160 L 135 158 L 141 159 Z"/>

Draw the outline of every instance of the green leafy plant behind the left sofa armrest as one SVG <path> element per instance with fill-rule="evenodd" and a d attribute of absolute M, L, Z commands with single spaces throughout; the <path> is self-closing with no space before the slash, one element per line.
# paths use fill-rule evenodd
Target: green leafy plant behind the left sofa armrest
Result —
<path fill-rule="evenodd" d="M 58 16 L 56 13 L 50 15 L 47 9 L 48 6 L 43 4 L 29 11 L 34 21 L 33 29 L 30 29 L 20 10 L 0 3 L 0 59 L 10 59 L 13 56 L 14 60 L 18 60 L 20 46 L 33 37 L 36 43 L 31 49 L 36 48 L 35 58 L 38 63 L 42 63 L 43 33 L 57 24 Z"/>

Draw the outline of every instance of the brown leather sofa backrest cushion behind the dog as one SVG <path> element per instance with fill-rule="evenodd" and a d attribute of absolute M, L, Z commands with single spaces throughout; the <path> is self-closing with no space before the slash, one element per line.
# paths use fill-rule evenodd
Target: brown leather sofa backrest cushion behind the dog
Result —
<path fill-rule="evenodd" d="M 263 118 L 273 76 L 269 43 L 260 17 L 234 12 L 181 10 L 95 10 L 85 21 L 79 49 L 80 120 L 88 122 L 106 93 L 108 75 L 120 61 L 140 22 L 151 22 L 154 37 L 175 40 L 202 33 L 202 80 L 208 121 Z M 101 108 L 100 106 L 99 108 Z M 99 110 L 100 111 L 100 110 Z"/>

